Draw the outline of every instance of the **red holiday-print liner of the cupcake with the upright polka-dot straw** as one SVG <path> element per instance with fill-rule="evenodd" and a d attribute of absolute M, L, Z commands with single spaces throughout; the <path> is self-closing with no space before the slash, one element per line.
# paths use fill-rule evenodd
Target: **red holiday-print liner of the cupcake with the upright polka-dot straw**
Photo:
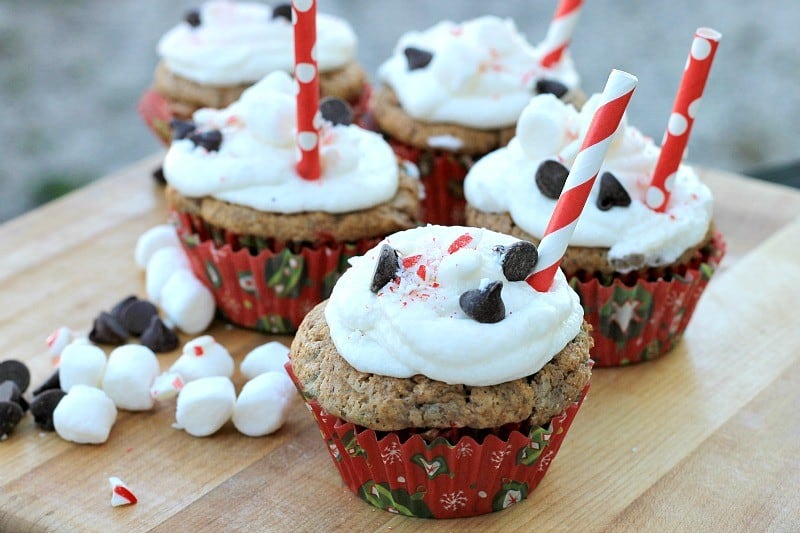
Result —
<path fill-rule="evenodd" d="M 192 270 L 218 310 L 234 324 L 271 334 L 295 332 L 330 295 L 347 260 L 380 240 L 286 243 L 219 230 L 188 213 L 172 215 Z"/>

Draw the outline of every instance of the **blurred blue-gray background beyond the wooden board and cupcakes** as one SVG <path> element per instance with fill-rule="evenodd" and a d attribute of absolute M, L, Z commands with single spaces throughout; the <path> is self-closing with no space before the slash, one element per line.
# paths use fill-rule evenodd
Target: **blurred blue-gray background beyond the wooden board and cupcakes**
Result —
<path fill-rule="evenodd" d="M 0 220 L 162 150 L 136 102 L 150 84 L 158 38 L 197 5 L 0 0 Z M 319 5 L 351 22 L 359 59 L 374 74 L 400 34 L 445 18 L 511 17 L 537 43 L 556 1 Z M 600 91 L 612 67 L 636 74 L 630 122 L 661 139 L 694 30 L 722 32 L 689 158 L 757 172 L 800 159 L 798 25 L 797 0 L 586 0 L 571 51 L 586 92 Z"/>

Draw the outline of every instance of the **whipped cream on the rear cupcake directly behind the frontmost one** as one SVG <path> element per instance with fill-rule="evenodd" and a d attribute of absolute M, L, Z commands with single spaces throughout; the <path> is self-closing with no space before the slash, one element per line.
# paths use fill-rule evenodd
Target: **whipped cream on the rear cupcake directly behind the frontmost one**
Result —
<path fill-rule="evenodd" d="M 404 54 L 408 47 L 429 52 L 433 58 L 423 68 L 409 69 Z M 484 16 L 460 24 L 444 21 L 400 37 L 378 76 L 414 118 L 501 128 L 516 122 L 538 80 L 557 80 L 570 89 L 578 86 L 569 52 L 552 68 L 539 65 L 544 53 L 544 48 L 528 44 L 511 19 Z"/>

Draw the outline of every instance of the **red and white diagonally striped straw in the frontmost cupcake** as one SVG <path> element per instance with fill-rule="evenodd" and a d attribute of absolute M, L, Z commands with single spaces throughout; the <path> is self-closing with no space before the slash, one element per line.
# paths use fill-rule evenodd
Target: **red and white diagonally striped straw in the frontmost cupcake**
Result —
<path fill-rule="evenodd" d="M 581 149 L 567 176 L 564 190 L 558 197 L 542 242 L 539 243 L 536 268 L 526 280 L 539 292 L 547 291 L 553 284 L 553 277 L 589 198 L 600 165 L 606 157 L 611 137 L 617 131 L 628 107 L 636 82 L 636 76 L 621 70 L 612 70 L 608 76 L 603 94 L 600 95 L 600 105 L 594 112 Z"/>

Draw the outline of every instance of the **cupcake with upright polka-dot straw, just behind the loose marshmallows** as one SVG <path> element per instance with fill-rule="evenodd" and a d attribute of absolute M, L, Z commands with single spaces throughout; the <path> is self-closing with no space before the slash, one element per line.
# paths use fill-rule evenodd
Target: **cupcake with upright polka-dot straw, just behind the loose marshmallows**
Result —
<path fill-rule="evenodd" d="M 227 319 L 269 333 L 294 331 L 351 256 L 415 226 L 419 209 L 418 179 L 341 100 L 320 104 L 320 178 L 301 178 L 294 85 L 274 72 L 226 108 L 174 121 L 164 159 L 195 274 Z"/>

